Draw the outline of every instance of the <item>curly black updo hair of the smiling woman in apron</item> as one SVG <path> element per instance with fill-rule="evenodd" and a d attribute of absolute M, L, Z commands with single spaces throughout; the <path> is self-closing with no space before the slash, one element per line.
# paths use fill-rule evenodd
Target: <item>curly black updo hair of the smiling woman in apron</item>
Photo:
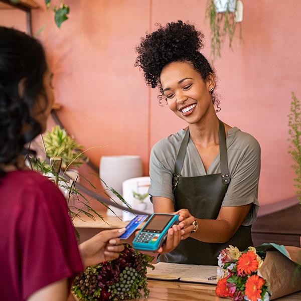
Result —
<path fill-rule="evenodd" d="M 215 76 L 215 72 L 208 60 L 200 53 L 204 47 L 204 35 L 195 27 L 183 21 L 168 23 L 165 27 L 159 24 L 159 29 L 141 38 L 141 44 L 136 47 L 138 54 L 135 67 L 144 72 L 147 86 L 156 88 L 159 86 L 159 103 L 162 104 L 164 97 L 160 83 L 160 74 L 164 66 L 172 62 L 189 61 L 193 64 L 203 80 L 208 78 L 209 73 Z M 213 103 L 219 111 L 219 100 L 216 93 L 212 92 Z"/>

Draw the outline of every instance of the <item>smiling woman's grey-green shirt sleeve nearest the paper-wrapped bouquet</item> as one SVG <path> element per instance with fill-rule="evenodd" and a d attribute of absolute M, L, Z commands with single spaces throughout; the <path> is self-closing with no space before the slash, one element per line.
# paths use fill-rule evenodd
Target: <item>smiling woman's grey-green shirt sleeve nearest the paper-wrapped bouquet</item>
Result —
<path fill-rule="evenodd" d="M 248 226 L 256 221 L 258 203 L 258 182 L 260 175 L 260 145 L 252 138 L 244 149 L 241 158 L 230 174 L 231 181 L 224 197 L 222 207 L 243 206 L 253 203 L 253 206 L 242 225 Z"/>

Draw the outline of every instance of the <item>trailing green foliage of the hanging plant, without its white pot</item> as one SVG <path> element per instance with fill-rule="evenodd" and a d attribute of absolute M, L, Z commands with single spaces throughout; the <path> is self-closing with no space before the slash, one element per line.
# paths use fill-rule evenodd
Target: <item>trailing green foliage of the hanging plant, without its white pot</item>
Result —
<path fill-rule="evenodd" d="M 209 19 L 211 30 L 211 55 L 214 59 L 221 57 L 221 48 L 226 36 L 229 39 L 229 48 L 232 49 L 232 40 L 235 33 L 235 13 L 229 11 L 229 1 L 225 13 L 217 13 L 214 0 L 208 0 L 206 6 L 206 18 Z M 242 38 L 240 32 L 240 39 Z"/>

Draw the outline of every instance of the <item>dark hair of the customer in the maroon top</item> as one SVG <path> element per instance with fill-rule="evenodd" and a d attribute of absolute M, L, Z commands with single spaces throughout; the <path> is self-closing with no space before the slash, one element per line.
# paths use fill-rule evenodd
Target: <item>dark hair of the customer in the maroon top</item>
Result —
<path fill-rule="evenodd" d="M 17 167 L 21 154 L 32 153 L 25 145 L 41 133 L 41 125 L 31 116 L 31 110 L 39 95 L 47 101 L 43 86 L 46 71 L 45 52 L 36 39 L 0 27 L 0 176 L 5 175 L 3 166 Z"/>

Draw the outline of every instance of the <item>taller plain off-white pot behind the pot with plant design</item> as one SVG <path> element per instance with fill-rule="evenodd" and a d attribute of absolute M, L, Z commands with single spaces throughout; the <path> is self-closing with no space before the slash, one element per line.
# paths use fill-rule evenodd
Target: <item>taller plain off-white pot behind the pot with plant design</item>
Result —
<path fill-rule="evenodd" d="M 142 163 L 139 156 L 102 156 L 99 167 L 100 178 L 122 195 L 122 182 L 142 176 Z M 104 185 L 103 185 L 104 186 Z M 106 191 L 117 204 L 123 204 L 112 192 Z M 121 216 L 122 210 L 109 206 L 116 215 Z M 111 210 L 107 215 L 114 216 Z"/>

